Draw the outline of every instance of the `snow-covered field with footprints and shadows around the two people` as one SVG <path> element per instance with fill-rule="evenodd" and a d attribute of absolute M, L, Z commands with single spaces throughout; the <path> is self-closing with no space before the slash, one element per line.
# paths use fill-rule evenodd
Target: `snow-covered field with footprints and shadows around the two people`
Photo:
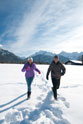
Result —
<path fill-rule="evenodd" d="M 37 65 L 32 96 L 26 100 L 23 65 L 0 64 L 0 124 L 83 124 L 83 66 L 66 66 L 58 101 L 53 98 L 48 65 Z"/>

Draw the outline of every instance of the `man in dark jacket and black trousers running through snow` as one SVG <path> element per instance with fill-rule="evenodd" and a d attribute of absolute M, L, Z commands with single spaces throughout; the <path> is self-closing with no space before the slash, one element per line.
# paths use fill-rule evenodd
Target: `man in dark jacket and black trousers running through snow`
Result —
<path fill-rule="evenodd" d="M 52 90 L 53 90 L 54 98 L 57 100 L 57 89 L 59 89 L 59 86 L 60 86 L 60 79 L 61 79 L 61 76 L 63 76 L 66 71 L 64 65 L 59 61 L 58 56 L 54 57 L 53 62 L 50 64 L 48 68 L 47 75 L 46 75 L 47 80 L 48 80 L 50 71 L 51 71 L 51 78 L 52 78 L 52 84 L 53 84 Z"/>

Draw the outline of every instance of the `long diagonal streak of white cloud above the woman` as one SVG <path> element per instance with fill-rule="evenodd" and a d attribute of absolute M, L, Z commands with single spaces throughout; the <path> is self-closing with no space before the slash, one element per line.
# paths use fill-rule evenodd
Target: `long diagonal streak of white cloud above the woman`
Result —
<path fill-rule="evenodd" d="M 48 2 L 49 0 L 46 0 L 44 4 L 41 2 L 35 3 L 31 12 L 29 14 L 27 14 L 27 12 L 24 14 L 24 18 L 14 34 L 16 37 L 16 42 L 11 44 L 11 49 L 16 52 L 23 51 L 21 49 L 30 49 L 30 41 L 37 31 L 37 26 L 41 23 L 42 13 Z"/>

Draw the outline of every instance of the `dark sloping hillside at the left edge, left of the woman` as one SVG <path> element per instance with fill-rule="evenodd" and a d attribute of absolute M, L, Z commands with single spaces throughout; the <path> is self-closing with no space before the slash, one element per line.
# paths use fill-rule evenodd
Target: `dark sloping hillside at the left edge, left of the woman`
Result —
<path fill-rule="evenodd" d="M 0 48 L 0 63 L 23 63 L 24 60 L 8 50 Z"/>

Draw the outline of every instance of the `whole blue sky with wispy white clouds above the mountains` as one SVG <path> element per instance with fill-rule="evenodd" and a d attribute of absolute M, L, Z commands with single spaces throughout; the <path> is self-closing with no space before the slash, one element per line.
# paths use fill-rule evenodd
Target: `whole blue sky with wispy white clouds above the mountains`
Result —
<path fill-rule="evenodd" d="M 20 56 L 83 51 L 83 0 L 0 0 L 0 47 Z"/>

